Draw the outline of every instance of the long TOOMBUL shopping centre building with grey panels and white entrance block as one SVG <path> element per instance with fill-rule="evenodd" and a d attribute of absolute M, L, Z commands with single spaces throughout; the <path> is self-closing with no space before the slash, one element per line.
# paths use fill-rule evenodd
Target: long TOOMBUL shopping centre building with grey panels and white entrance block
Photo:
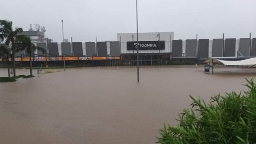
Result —
<path fill-rule="evenodd" d="M 175 39 L 174 32 L 117 33 L 117 41 L 100 42 L 35 42 L 46 54 L 34 52 L 33 61 L 80 61 L 88 65 L 168 65 L 173 61 L 200 63 L 209 57 L 255 57 L 256 38 Z M 28 54 L 18 52 L 16 61 L 28 61 Z M 86 61 L 86 62 L 83 62 Z M 39 63 L 39 62 L 33 62 Z M 57 62 L 54 62 L 55 64 Z M 70 62 L 70 64 L 72 64 Z M 56 65 L 62 65 L 62 62 Z M 19 65 L 18 65 L 19 66 Z M 84 65 L 85 66 L 85 65 Z"/>

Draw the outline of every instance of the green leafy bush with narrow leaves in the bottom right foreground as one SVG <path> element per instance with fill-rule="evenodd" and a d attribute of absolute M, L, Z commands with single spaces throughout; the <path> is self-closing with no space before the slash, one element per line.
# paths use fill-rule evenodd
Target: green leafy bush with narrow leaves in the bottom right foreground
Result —
<path fill-rule="evenodd" d="M 160 129 L 161 144 L 254 144 L 256 142 L 256 84 L 249 90 L 214 96 L 210 104 L 193 100 L 180 114 L 179 125 Z"/>

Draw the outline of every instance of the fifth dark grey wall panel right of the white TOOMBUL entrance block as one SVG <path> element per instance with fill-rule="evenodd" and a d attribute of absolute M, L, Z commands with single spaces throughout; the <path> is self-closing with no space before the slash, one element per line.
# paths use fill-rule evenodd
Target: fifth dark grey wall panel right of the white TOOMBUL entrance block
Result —
<path fill-rule="evenodd" d="M 236 39 L 225 39 L 224 57 L 234 57 L 236 52 Z"/>

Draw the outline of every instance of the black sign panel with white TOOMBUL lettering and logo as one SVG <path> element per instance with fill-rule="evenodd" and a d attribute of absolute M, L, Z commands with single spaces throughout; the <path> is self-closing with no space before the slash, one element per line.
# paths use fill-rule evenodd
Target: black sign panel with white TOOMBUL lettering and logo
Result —
<path fill-rule="evenodd" d="M 137 42 L 128 41 L 127 50 L 137 50 Z M 139 50 L 164 50 L 165 41 L 139 41 Z"/>

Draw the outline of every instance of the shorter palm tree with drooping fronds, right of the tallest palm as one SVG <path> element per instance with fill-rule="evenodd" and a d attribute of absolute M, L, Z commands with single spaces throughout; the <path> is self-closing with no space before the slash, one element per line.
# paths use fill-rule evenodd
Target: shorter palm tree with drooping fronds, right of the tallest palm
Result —
<path fill-rule="evenodd" d="M 35 50 L 37 51 L 41 51 L 43 53 L 46 52 L 45 48 L 39 47 L 39 46 L 35 46 L 35 44 L 33 44 L 31 42 L 30 37 L 27 37 L 25 35 L 17 37 L 17 39 L 15 40 L 15 50 L 16 51 L 21 51 L 21 50 L 26 50 L 26 52 L 29 54 L 29 61 L 30 61 L 30 75 L 33 75 L 32 72 L 32 52 L 34 52 Z"/>

